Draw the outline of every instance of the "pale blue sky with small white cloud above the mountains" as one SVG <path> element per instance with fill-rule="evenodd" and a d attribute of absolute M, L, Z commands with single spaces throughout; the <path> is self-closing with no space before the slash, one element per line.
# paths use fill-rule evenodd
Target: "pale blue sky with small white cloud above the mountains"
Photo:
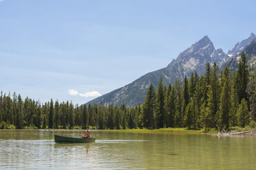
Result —
<path fill-rule="evenodd" d="M 256 34 L 256 1 L 0 0 L 0 90 L 85 104 L 167 66 L 207 35 Z"/>

